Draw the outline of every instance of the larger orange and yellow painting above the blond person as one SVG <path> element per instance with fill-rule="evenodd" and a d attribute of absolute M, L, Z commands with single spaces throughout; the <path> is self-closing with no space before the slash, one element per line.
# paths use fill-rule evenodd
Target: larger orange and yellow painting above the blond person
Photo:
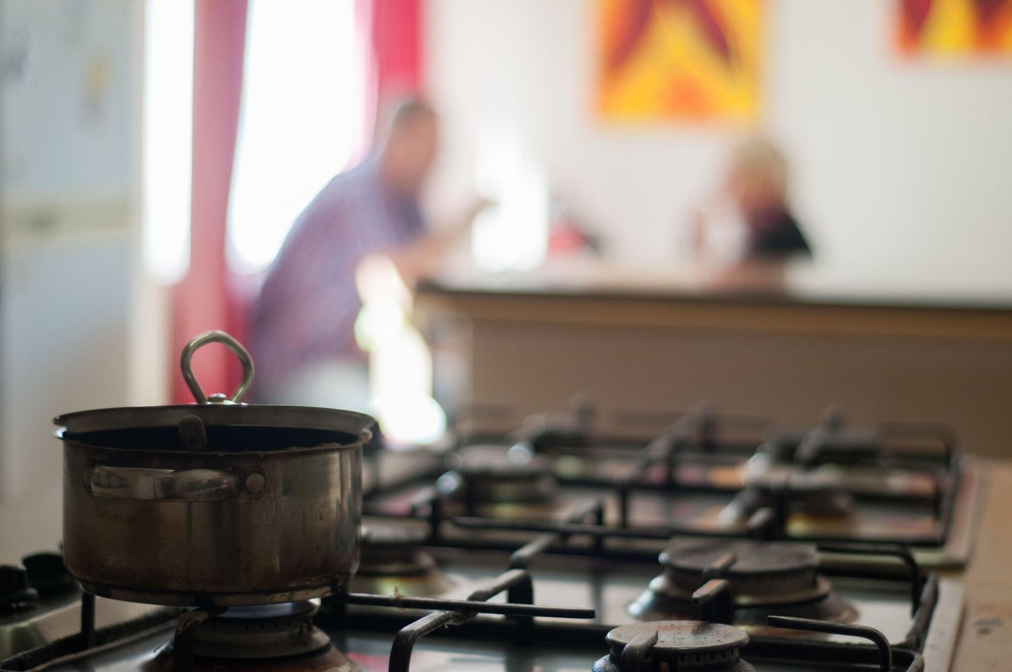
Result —
<path fill-rule="evenodd" d="M 597 107 L 624 121 L 755 119 L 763 0 L 598 0 Z"/>

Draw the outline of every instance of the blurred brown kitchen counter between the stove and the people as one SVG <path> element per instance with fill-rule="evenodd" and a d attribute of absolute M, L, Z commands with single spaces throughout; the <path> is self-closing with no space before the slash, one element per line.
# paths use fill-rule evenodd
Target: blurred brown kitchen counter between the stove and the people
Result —
<path fill-rule="evenodd" d="M 778 291 L 709 282 L 689 268 L 593 260 L 529 273 L 458 265 L 420 282 L 416 305 L 469 364 L 466 404 L 490 431 L 577 394 L 616 431 L 610 417 L 628 409 L 706 401 L 812 424 L 840 404 L 854 424 L 941 422 L 968 451 L 1010 454 L 1008 296 L 861 285 L 804 266 Z"/>

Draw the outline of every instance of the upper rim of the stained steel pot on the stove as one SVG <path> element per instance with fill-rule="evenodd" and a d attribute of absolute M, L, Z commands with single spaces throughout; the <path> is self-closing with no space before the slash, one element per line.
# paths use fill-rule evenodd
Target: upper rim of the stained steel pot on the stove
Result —
<path fill-rule="evenodd" d="M 364 413 L 311 406 L 268 404 L 177 404 L 172 406 L 124 406 L 76 411 L 59 415 L 53 422 L 59 426 L 56 437 L 103 450 L 137 452 L 138 448 L 92 445 L 86 436 L 92 432 L 124 429 L 171 427 L 188 415 L 195 415 L 205 425 L 216 427 L 273 427 L 333 431 L 354 437 L 350 442 L 328 441 L 312 446 L 289 446 L 256 452 L 284 452 L 293 449 L 350 448 L 364 445 L 372 437 L 375 420 Z M 180 450 L 142 449 L 144 452 L 179 454 Z M 205 454 L 220 451 L 207 450 Z M 188 453 L 197 454 L 197 453 Z"/>

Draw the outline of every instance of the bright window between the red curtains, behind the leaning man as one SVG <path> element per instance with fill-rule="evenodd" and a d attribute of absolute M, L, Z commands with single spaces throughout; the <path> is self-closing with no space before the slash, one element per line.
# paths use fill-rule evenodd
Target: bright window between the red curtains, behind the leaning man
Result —
<path fill-rule="evenodd" d="M 229 207 L 229 263 L 274 259 L 360 139 L 364 66 L 353 0 L 251 0 Z"/>

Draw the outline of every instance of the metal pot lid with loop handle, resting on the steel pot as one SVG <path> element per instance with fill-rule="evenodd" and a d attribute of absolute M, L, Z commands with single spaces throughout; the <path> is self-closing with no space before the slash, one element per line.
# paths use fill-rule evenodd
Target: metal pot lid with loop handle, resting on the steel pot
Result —
<path fill-rule="evenodd" d="M 243 364 L 243 382 L 231 398 L 221 394 L 205 395 L 190 367 L 193 352 L 213 342 L 224 344 Z M 222 331 L 209 331 L 190 341 L 183 348 L 180 367 L 196 404 L 129 406 L 67 413 L 53 420 L 61 427 L 57 436 L 80 438 L 88 443 L 94 441 L 107 447 L 173 449 L 164 437 L 155 441 L 159 445 L 151 445 L 145 440 L 157 436 L 151 431 L 170 428 L 174 436 L 170 443 L 178 444 L 177 449 L 200 450 L 205 446 L 209 450 L 228 449 L 218 444 L 232 444 L 231 439 L 239 436 L 245 437 L 244 442 L 249 436 L 259 436 L 274 444 L 273 448 L 260 449 L 281 449 L 367 441 L 371 435 L 369 430 L 375 424 L 371 417 L 351 411 L 241 403 L 253 382 L 253 359 L 246 348 Z M 291 442 L 283 445 L 289 439 Z"/>

